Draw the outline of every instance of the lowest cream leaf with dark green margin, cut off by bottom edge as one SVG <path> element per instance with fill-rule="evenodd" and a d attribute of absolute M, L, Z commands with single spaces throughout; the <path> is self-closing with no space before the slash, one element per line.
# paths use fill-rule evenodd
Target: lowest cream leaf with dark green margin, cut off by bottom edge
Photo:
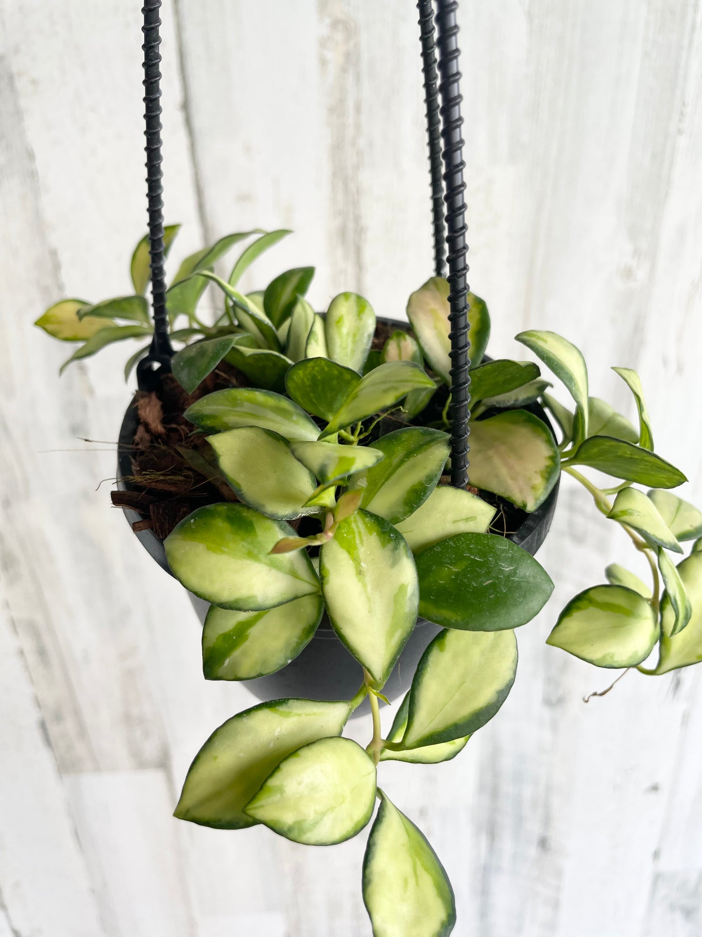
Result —
<path fill-rule="evenodd" d="M 456 900 L 424 834 L 382 791 L 363 856 L 363 903 L 373 937 L 448 937 Z"/>

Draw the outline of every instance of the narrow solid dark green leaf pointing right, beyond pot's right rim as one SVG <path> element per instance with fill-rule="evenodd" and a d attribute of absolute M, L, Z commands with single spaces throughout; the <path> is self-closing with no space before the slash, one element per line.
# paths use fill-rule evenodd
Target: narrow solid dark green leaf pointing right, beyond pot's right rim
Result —
<path fill-rule="evenodd" d="M 687 482 L 680 469 L 671 466 L 660 455 L 610 436 L 585 439 L 566 465 L 590 466 L 615 478 L 650 484 L 654 488 L 677 488 Z"/>

